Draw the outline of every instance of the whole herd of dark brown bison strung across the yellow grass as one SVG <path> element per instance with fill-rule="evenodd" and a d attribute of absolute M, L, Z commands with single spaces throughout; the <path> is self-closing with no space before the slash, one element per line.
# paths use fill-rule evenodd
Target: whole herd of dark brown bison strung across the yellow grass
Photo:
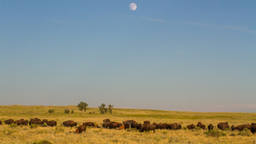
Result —
<path fill-rule="evenodd" d="M 48 119 L 39 119 L 39 118 L 32 118 L 29 122 L 28 120 L 24 120 L 23 118 L 20 120 L 16 120 L 14 121 L 14 119 L 8 119 L 4 121 L 5 124 L 17 124 L 17 125 L 31 125 L 31 124 L 44 124 L 46 123 L 48 126 L 56 126 L 57 123 L 54 120 L 50 120 L 48 121 Z M 77 127 L 77 123 L 74 122 L 73 120 L 67 120 L 65 122 L 62 123 L 65 127 Z M 0 121 L 0 125 L 2 125 L 2 121 Z M 83 123 L 82 125 L 80 125 L 79 127 L 77 127 L 76 129 L 76 133 L 80 134 L 83 131 L 85 132 L 86 127 L 90 126 L 90 127 L 96 127 L 96 128 L 100 128 L 97 124 L 94 124 L 92 122 L 86 122 Z M 138 124 L 135 120 L 131 119 L 131 120 L 125 120 L 123 121 L 123 123 L 119 123 L 119 122 L 113 122 L 111 121 L 109 118 L 106 118 L 103 120 L 102 123 L 102 127 L 103 128 L 109 128 L 109 129 L 119 129 L 119 130 L 126 130 L 126 129 L 130 129 L 130 128 L 135 128 L 137 130 L 139 130 L 140 132 L 143 131 L 149 131 L 152 130 L 154 132 L 154 130 L 181 130 L 181 125 L 174 123 L 174 124 L 157 124 L 157 123 L 153 123 L 150 124 L 149 121 L 144 121 L 143 124 Z M 205 124 L 201 124 L 201 122 L 198 122 L 198 124 L 196 124 L 196 126 L 194 124 L 189 124 L 187 125 L 187 128 L 189 130 L 195 129 L 195 127 L 200 127 L 202 130 L 206 130 L 206 125 Z M 230 129 L 229 124 L 226 123 L 219 123 L 217 125 L 219 130 L 225 130 L 225 129 Z M 213 130 L 213 125 L 209 124 L 207 126 L 208 130 Z M 239 130 L 242 131 L 244 129 L 247 130 L 251 130 L 251 132 L 254 134 L 256 131 L 256 124 L 252 123 L 252 124 L 241 124 L 241 125 L 237 125 L 236 127 L 234 125 L 231 126 L 231 130 Z"/>

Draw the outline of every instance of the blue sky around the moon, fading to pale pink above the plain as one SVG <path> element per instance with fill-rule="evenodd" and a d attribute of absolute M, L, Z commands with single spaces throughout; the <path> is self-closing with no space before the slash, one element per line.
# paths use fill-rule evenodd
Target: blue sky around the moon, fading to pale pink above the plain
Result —
<path fill-rule="evenodd" d="M 0 105 L 256 112 L 255 8 L 0 0 Z"/>

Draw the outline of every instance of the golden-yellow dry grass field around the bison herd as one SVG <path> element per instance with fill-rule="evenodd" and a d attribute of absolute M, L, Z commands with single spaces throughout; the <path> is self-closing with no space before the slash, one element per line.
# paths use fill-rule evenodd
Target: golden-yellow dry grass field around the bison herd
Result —
<path fill-rule="evenodd" d="M 49 113 L 54 109 L 54 113 Z M 65 109 L 74 110 L 74 113 L 64 113 Z M 89 113 L 91 112 L 91 113 Z M 38 126 L 31 129 L 30 126 L 0 125 L 0 143 L 33 143 L 38 141 L 50 141 L 52 143 L 256 143 L 256 134 L 241 135 L 239 131 L 225 130 L 224 136 L 212 137 L 206 135 L 207 130 L 155 130 L 140 133 L 138 130 L 108 130 L 99 128 L 87 128 L 82 134 L 75 134 L 75 128 L 62 127 L 62 122 L 73 120 L 78 125 L 84 122 L 102 124 L 104 118 L 112 121 L 122 122 L 134 119 L 143 124 L 144 120 L 151 123 L 177 123 L 182 127 L 188 124 L 212 124 L 217 130 L 217 124 L 228 122 L 231 126 L 238 124 L 256 123 L 256 113 L 242 112 L 173 112 L 160 110 L 140 110 L 114 108 L 113 114 L 101 114 L 98 108 L 89 108 L 86 112 L 80 112 L 76 106 L 0 106 L 0 120 L 13 118 L 19 120 L 24 118 L 40 118 L 55 120 L 56 127 Z M 221 130 L 218 130 L 221 131 Z"/>

